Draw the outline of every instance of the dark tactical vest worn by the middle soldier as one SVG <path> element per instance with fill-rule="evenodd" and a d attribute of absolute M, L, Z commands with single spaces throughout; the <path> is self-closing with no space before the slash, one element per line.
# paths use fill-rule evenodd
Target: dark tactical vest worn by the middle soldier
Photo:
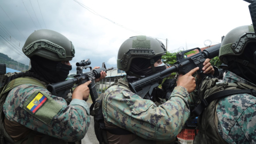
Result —
<path fill-rule="evenodd" d="M 131 91 L 128 83 L 125 82 L 122 78 L 118 79 L 117 82 L 110 85 L 109 87 L 114 86 L 114 85 L 122 86 L 122 89 Z M 116 134 L 116 135 L 133 134 L 130 131 L 122 129 L 121 127 L 118 127 L 115 129 L 106 129 L 105 123 L 104 123 L 104 117 L 103 117 L 103 113 L 102 113 L 102 99 L 103 99 L 103 94 L 101 94 L 100 97 L 96 100 L 96 102 L 93 103 L 90 107 L 90 110 L 91 110 L 90 114 L 91 114 L 91 116 L 93 116 L 93 119 L 94 119 L 94 131 L 95 131 L 96 137 L 97 137 L 98 141 L 100 142 L 100 144 L 102 144 L 102 143 L 108 144 L 107 131 L 112 134 Z M 176 140 L 174 140 L 172 142 L 168 142 L 168 141 L 167 142 L 166 141 L 157 141 L 156 142 L 153 140 L 146 140 L 141 137 L 137 137 L 135 140 L 130 142 L 130 144 L 141 144 L 141 143 L 147 143 L 147 144 L 151 144 L 151 143 L 152 144 L 153 143 L 175 144 L 175 143 L 177 143 L 177 144 L 180 144 L 180 142 L 178 141 L 178 138 L 176 138 Z"/>

